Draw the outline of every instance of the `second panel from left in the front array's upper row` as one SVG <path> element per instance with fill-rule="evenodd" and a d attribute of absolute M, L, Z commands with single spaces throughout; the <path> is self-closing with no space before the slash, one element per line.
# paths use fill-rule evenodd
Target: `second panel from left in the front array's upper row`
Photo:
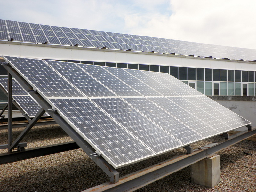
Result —
<path fill-rule="evenodd" d="M 88 97 L 116 96 L 75 63 L 52 60 L 45 60 L 45 62 Z"/>

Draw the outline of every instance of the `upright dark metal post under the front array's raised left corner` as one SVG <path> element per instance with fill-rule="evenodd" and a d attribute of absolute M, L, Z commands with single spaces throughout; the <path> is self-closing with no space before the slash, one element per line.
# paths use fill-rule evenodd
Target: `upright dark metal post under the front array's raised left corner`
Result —
<path fill-rule="evenodd" d="M 12 145 L 12 75 L 8 72 L 8 148 Z M 8 152 L 12 152 L 8 149 Z"/>

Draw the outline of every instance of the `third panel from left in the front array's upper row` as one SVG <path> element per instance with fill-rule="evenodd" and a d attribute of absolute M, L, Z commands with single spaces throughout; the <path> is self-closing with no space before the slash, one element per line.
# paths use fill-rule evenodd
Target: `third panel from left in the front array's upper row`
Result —
<path fill-rule="evenodd" d="M 124 84 L 122 81 L 100 66 L 84 64 L 79 64 L 79 66 L 118 96 L 141 96 L 140 93 Z"/>

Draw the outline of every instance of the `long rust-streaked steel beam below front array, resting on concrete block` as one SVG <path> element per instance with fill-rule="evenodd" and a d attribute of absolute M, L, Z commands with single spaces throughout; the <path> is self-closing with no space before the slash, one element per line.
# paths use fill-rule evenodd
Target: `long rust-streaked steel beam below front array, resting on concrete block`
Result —
<path fill-rule="evenodd" d="M 229 140 L 222 139 L 202 148 L 195 149 L 192 154 L 180 155 L 153 166 L 144 168 L 140 171 L 125 175 L 119 179 L 118 183 L 111 184 L 106 182 L 104 184 L 84 190 L 83 192 L 135 191 L 255 134 L 255 128 L 252 130 L 239 132 L 230 136 Z"/>

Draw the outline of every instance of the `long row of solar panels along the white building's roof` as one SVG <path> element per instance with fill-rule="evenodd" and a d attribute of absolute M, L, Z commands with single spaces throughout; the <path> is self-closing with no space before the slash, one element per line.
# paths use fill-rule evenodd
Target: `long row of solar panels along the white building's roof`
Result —
<path fill-rule="evenodd" d="M 143 52 L 255 60 L 256 50 L 173 39 L 0 20 L 0 39 Z"/>

